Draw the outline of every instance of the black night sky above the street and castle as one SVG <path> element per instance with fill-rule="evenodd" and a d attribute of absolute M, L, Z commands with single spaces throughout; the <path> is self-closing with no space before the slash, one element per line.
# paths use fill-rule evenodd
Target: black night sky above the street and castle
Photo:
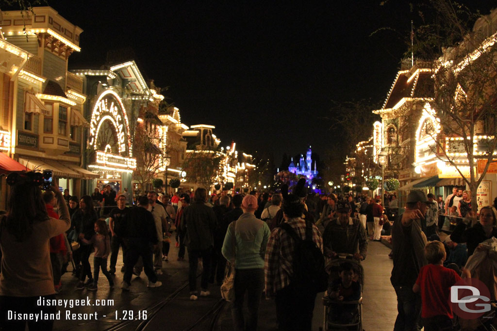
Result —
<path fill-rule="evenodd" d="M 268 151 L 276 164 L 334 143 L 331 100 L 385 99 L 407 48 L 395 32 L 370 34 L 409 36 L 416 14 L 408 1 L 380 2 L 48 0 L 84 30 L 70 68 L 132 47 L 186 125 L 215 125 L 222 145 Z"/>

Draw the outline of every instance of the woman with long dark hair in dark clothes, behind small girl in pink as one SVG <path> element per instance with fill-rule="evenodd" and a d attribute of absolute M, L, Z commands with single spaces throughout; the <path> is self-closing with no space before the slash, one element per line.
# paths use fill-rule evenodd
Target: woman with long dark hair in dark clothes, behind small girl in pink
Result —
<path fill-rule="evenodd" d="M 95 234 L 94 224 L 98 216 L 93 208 L 93 200 L 90 196 L 83 196 L 80 200 L 80 209 L 73 214 L 71 223 L 75 226 L 78 234 L 78 242 L 80 243 L 80 259 L 83 265 L 80 272 L 80 282 L 76 285 L 76 289 L 82 290 L 84 288 L 84 279 L 88 276 L 86 285 L 93 284 L 93 277 L 91 276 L 91 267 L 88 261 L 91 254 L 91 244 L 83 242 L 82 238 L 90 240 Z"/>

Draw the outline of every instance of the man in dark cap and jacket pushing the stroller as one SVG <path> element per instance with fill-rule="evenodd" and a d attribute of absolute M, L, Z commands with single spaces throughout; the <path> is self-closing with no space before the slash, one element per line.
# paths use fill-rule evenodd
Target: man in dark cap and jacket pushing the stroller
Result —
<path fill-rule="evenodd" d="M 338 253 L 352 254 L 357 261 L 364 260 L 368 250 L 366 229 L 357 218 L 350 217 L 347 200 L 336 203 L 337 217 L 332 219 L 323 233 L 324 253 L 329 258 Z"/>

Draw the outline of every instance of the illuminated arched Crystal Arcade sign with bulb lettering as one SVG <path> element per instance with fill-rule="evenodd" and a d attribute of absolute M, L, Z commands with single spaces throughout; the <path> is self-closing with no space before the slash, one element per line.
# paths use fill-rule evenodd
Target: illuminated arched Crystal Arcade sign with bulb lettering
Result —
<path fill-rule="evenodd" d="M 93 149 L 97 149 L 98 132 L 104 121 L 109 121 L 114 127 L 119 153 L 126 152 L 127 149 L 127 154 L 133 156 L 126 109 L 119 95 L 112 90 L 105 90 L 100 94 L 91 113 L 89 145 Z"/>

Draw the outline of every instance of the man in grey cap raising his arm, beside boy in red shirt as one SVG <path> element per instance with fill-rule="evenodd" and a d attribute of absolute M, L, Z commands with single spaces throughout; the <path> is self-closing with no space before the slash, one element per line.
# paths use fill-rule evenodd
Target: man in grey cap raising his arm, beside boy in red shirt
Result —
<path fill-rule="evenodd" d="M 421 229 L 427 203 L 428 197 L 424 192 L 411 191 L 406 211 L 392 226 L 394 267 L 390 281 L 397 294 L 398 310 L 394 331 L 420 330 L 421 297 L 413 292 L 413 285 L 419 269 L 427 264 L 424 257 L 426 236 Z"/>

